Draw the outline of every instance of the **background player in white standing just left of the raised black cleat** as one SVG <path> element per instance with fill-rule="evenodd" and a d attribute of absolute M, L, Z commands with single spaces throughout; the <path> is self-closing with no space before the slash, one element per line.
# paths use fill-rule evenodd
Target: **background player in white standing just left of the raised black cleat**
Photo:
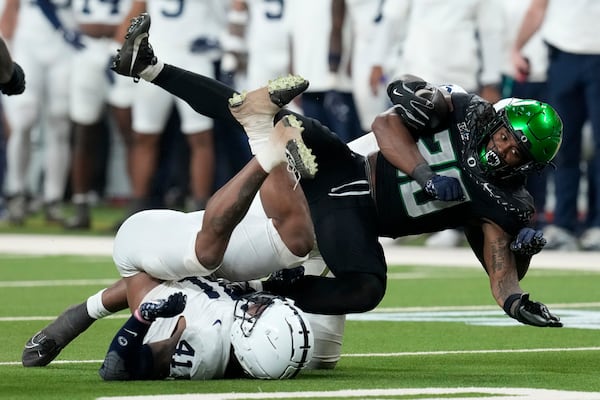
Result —
<path fill-rule="evenodd" d="M 73 56 L 70 117 L 75 124 L 71 180 L 75 215 L 65 223 L 69 229 L 91 225 L 89 191 L 96 159 L 96 143 L 102 134 L 102 118 L 108 104 L 125 144 L 131 137 L 131 79 L 112 74 L 110 55 L 120 47 L 117 29 L 133 0 L 73 0 L 72 9 L 84 47 Z"/>

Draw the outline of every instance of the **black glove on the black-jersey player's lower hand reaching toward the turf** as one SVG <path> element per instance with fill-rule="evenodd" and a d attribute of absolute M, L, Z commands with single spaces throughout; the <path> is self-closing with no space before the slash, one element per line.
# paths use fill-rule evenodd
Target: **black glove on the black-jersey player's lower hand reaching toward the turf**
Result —
<path fill-rule="evenodd" d="M 514 314 L 511 313 L 514 302 L 518 302 Z M 544 304 L 529 300 L 529 293 L 515 293 L 504 302 L 504 311 L 522 324 L 540 327 L 561 328 L 560 318 L 552 314 Z"/>

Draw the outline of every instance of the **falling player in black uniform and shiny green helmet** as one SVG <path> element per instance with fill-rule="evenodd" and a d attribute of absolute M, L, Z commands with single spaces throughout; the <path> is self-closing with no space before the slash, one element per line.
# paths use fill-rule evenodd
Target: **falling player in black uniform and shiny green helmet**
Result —
<path fill-rule="evenodd" d="M 273 119 L 274 99 L 245 98 L 217 81 L 164 64 L 148 43 L 148 18 L 130 27 L 114 60 L 116 72 L 151 81 L 204 115 L 239 123 L 251 148 L 263 141 L 256 140 L 257 131 L 291 113 L 281 109 Z M 380 236 L 461 226 L 496 302 L 509 316 L 535 326 L 562 326 L 519 285 L 531 255 L 544 244 L 538 232 L 527 228 L 534 208 L 524 183 L 558 151 L 562 122 L 554 109 L 523 100 L 495 110 L 479 96 L 446 95 L 414 76 L 391 83 L 388 95 L 394 107 L 373 122 L 378 149 L 367 157 L 318 121 L 297 115 L 302 139 L 319 166 L 314 179 L 300 184 L 319 251 L 335 278 L 274 280 L 264 289 L 294 298 L 307 312 L 369 311 L 386 289 Z M 268 169 L 268 162 L 256 158 Z M 268 184 L 267 179 L 263 185 Z"/>

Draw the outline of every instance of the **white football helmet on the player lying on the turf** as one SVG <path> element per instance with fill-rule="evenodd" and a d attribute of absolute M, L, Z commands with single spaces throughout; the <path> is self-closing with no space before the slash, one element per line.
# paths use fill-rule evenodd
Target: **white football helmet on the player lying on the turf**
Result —
<path fill-rule="evenodd" d="M 314 337 L 292 300 L 259 292 L 236 303 L 231 344 L 251 377 L 287 379 L 312 359 Z"/>

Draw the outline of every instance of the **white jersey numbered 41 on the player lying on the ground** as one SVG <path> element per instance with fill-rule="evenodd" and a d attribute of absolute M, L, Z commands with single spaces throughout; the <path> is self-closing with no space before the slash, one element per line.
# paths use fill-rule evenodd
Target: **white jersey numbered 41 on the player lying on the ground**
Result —
<path fill-rule="evenodd" d="M 200 277 L 164 282 L 151 290 L 144 301 L 167 298 L 175 292 L 187 295 L 185 310 L 173 318 L 158 318 L 144 343 L 168 339 L 180 317 L 186 328 L 171 359 L 170 377 L 176 379 L 219 379 L 231 356 L 230 331 L 235 300 L 218 283 Z"/>

